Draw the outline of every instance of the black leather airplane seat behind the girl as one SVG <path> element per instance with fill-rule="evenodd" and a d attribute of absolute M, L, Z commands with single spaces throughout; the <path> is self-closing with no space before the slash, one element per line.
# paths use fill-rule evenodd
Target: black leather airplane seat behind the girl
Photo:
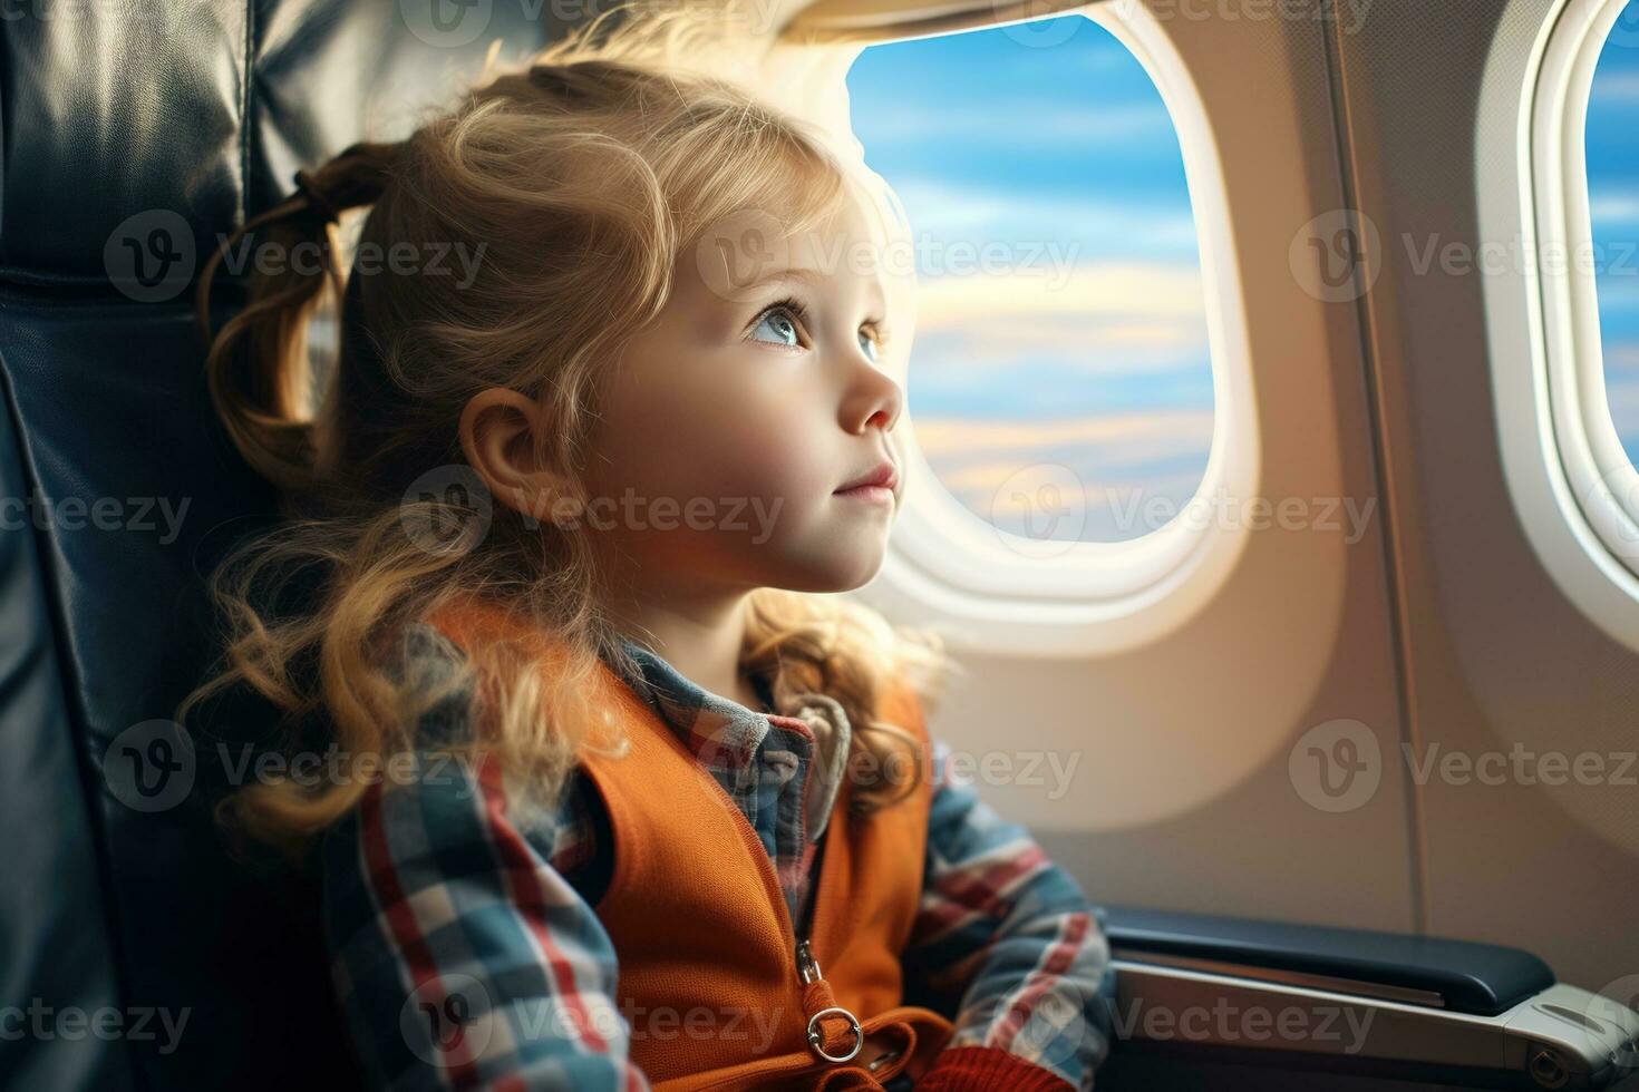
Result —
<path fill-rule="evenodd" d="M 543 11 L 195 0 L 0 21 L 0 1087 L 347 1082 L 321 948 L 287 910 L 306 892 L 231 868 L 198 794 L 133 807 L 110 787 L 188 776 L 146 722 L 213 652 L 202 575 L 274 509 L 213 424 L 190 282 L 298 167 L 397 139 L 493 39 L 503 59 L 544 44 Z"/>

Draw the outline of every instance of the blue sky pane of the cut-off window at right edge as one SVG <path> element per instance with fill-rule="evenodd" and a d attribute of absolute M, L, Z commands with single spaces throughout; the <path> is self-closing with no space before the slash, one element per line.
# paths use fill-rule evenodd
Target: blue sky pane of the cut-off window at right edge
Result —
<path fill-rule="evenodd" d="M 1588 208 L 1605 391 L 1628 458 L 1639 463 L 1639 0 L 1605 41 L 1588 98 Z"/>

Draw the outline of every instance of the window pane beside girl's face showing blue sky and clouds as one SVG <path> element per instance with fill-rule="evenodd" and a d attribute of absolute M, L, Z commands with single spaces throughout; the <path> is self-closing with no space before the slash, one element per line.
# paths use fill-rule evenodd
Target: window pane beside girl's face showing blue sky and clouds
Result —
<path fill-rule="evenodd" d="M 872 46 L 847 88 L 910 218 L 906 395 L 939 481 L 1037 539 L 1169 522 L 1206 470 L 1213 378 L 1183 157 L 1149 74 L 1067 15 Z M 1036 524 L 1042 488 L 1074 517 Z"/>

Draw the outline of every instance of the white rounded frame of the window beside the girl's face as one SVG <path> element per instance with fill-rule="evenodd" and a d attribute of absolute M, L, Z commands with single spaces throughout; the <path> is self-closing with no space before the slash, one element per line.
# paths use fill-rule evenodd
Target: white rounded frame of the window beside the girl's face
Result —
<path fill-rule="evenodd" d="M 1251 350 L 1228 195 L 1205 103 L 1180 54 L 1142 5 L 1072 13 L 1110 31 L 1154 82 L 1183 157 L 1200 252 L 1213 439 L 1193 499 L 1236 503 L 1255 493 L 1260 468 Z M 1054 15 L 1047 18 L 1064 18 Z M 1013 20 L 1011 25 L 1034 20 Z M 995 28 L 992 28 L 995 29 Z M 874 43 L 887 44 L 887 43 Z M 915 380 L 911 380 L 915 381 Z M 1237 521 L 1172 519 L 1124 542 L 1024 540 L 970 512 L 938 480 L 908 413 L 906 503 L 879 586 L 901 609 L 942 624 L 956 643 L 1047 657 L 1129 648 L 1182 625 L 1223 586 L 1246 547 Z M 1205 522 L 1195 527 L 1192 522 Z"/>

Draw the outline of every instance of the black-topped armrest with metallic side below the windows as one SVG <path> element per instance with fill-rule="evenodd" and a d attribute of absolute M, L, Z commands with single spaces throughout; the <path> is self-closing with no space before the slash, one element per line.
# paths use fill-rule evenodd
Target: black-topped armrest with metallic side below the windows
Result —
<path fill-rule="evenodd" d="M 1131 907 L 1100 910 L 1116 1053 L 1482 1089 L 1639 1072 L 1639 1013 L 1518 948 Z"/>

